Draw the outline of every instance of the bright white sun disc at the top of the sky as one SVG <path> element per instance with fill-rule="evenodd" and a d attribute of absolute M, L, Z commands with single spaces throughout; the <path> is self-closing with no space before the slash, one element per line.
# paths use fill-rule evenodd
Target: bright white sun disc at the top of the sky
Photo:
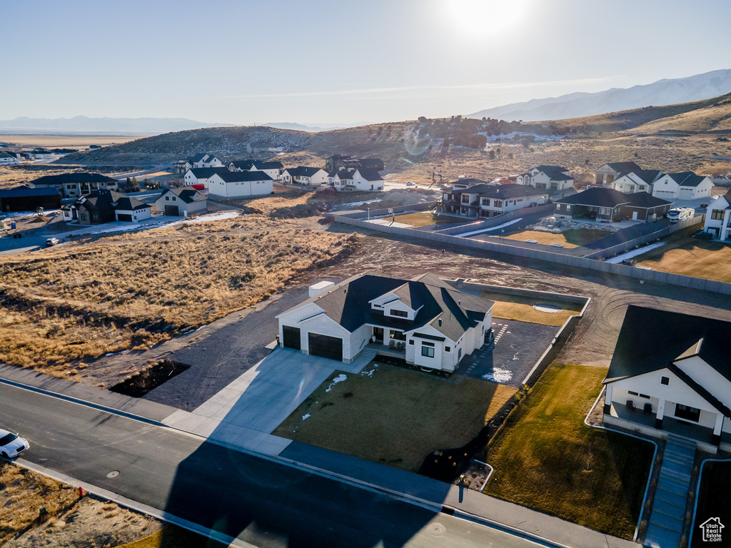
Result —
<path fill-rule="evenodd" d="M 480 38 L 517 28 L 525 20 L 528 0 L 442 0 L 442 5 L 452 25 Z"/>

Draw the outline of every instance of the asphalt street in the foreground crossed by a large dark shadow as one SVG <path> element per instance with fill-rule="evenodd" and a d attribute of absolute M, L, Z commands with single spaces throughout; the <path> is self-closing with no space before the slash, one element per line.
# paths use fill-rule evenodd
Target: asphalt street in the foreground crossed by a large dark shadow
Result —
<path fill-rule="evenodd" d="M 529 547 L 530 541 L 200 438 L 0 385 L 31 463 L 261 547 Z M 110 478 L 110 472 L 118 475 Z"/>

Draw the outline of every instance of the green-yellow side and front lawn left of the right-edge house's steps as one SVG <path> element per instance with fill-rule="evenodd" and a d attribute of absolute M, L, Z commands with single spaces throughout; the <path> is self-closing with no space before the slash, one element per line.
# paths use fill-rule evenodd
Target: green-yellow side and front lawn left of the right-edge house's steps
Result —
<path fill-rule="evenodd" d="M 488 495 L 632 538 L 654 446 L 584 425 L 606 373 L 557 364 L 543 373 L 488 446 Z"/>

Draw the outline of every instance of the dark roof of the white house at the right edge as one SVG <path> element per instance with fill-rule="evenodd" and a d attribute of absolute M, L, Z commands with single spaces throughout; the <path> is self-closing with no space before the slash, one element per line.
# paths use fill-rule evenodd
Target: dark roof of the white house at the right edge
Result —
<path fill-rule="evenodd" d="M 731 321 L 629 305 L 605 382 L 695 355 L 731 381 Z"/>

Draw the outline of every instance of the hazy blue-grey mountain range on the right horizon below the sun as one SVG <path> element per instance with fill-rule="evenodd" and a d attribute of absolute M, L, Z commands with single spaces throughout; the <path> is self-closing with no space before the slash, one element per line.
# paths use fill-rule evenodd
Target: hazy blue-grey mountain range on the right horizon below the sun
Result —
<path fill-rule="evenodd" d="M 522 103 L 505 104 L 467 115 L 467 118 L 498 118 L 500 120 L 564 120 L 651 105 L 678 104 L 724 95 L 731 92 L 731 69 L 714 70 L 673 80 L 658 80 L 632 88 L 612 88 L 593 94 L 573 93 L 547 99 L 531 99 Z"/>

